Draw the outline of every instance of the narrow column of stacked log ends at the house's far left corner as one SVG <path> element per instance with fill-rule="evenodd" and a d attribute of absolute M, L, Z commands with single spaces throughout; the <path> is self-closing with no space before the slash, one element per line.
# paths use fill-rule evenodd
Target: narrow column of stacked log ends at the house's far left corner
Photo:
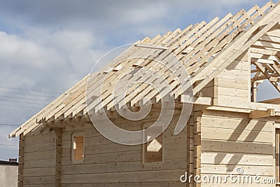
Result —
<path fill-rule="evenodd" d="M 18 187 L 23 186 L 23 165 L 25 157 L 25 136 L 20 134 L 19 151 L 18 151 Z"/>

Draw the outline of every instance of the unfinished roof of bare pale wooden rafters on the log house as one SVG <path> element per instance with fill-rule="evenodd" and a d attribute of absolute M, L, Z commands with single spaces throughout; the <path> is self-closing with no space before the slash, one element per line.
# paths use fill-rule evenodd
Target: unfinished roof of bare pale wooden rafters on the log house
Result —
<path fill-rule="evenodd" d="M 101 106 L 107 106 L 106 109 L 115 107 L 112 102 L 111 85 L 116 83 L 121 74 L 126 74 L 139 67 L 158 69 L 158 71 L 162 69 L 160 66 L 153 67 L 150 64 L 151 60 L 148 59 L 141 62 L 139 60 L 122 61 L 123 58 L 132 54 L 144 54 L 149 48 L 155 49 L 155 56 L 159 53 L 164 55 L 167 52 L 165 58 L 170 53 L 178 57 L 179 63 L 173 65 L 184 66 L 187 70 L 194 95 L 248 48 L 253 48 L 255 56 L 252 58 L 252 64 L 255 64 L 257 68 L 255 80 L 270 78 L 269 81 L 274 81 L 274 86 L 280 90 L 278 84 L 275 83 L 278 79 L 274 80 L 280 76 L 278 58 L 276 57 L 276 53 L 280 50 L 280 39 L 275 38 L 274 43 L 270 43 L 271 37 L 265 35 L 267 32 L 273 33 L 274 30 L 279 29 L 279 20 L 279 3 L 274 4 L 269 1 L 261 8 L 256 5 L 249 11 L 241 10 L 235 15 L 228 13 L 222 19 L 214 18 L 209 23 L 203 21 L 189 25 L 183 30 L 176 29 L 174 32 L 167 32 L 162 36 L 157 35 L 153 39 L 146 38 L 137 41 L 134 46 L 118 56 L 118 60 L 113 60 L 109 66 L 94 74 L 89 83 L 87 83 L 88 75 L 46 106 L 45 109 L 36 113 L 27 122 L 11 132 L 9 137 L 17 137 L 21 133 L 27 134 L 44 121 L 87 115 L 86 85 L 90 92 L 94 92 L 100 85 L 99 80 L 104 74 L 110 74 L 108 85 L 104 85 L 106 89 L 102 90 L 102 95 L 97 96 L 102 97 L 103 105 L 93 101 L 91 103 L 92 109 L 98 112 Z M 274 49 L 273 54 L 269 51 L 271 48 Z M 269 63 L 262 64 L 262 62 Z M 160 74 L 172 85 L 175 97 L 179 97 L 182 90 L 178 89 L 178 83 L 174 81 L 174 77 L 169 76 L 166 71 L 162 71 Z M 136 89 L 128 95 L 130 99 L 126 103 L 130 102 L 130 105 L 133 105 L 144 97 L 148 99 L 157 97 L 158 92 L 153 91 L 149 86 L 142 86 L 141 89 Z"/>

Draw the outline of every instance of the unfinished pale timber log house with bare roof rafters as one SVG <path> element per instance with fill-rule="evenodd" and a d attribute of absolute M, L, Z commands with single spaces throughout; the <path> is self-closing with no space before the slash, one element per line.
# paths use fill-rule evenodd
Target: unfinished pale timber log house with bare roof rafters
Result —
<path fill-rule="evenodd" d="M 179 134 L 174 134 L 174 128 L 188 99 L 177 89 L 176 77 L 152 66 L 149 58 L 122 61 L 151 49 L 155 56 L 176 55 L 180 62 L 176 65 L 190 75 L 193 109 Z M 262 182 L 280 181 L 280 98 L 257 102 L 256 97 L 264 80 L 280 91 L 279 58 L 280 4 L 272 1 L 138 41 L 116 63 L 90 75 L 92 82 L 86 76 L 9 134 L 20 137 L 18 186 L 277 186 Z M 139 67 L 158 69 L 174 91 L 176 109 L 156 141 L 117 144 L 92 125 L 85 92 L 88 86 L 94 90 L 100 77 L 108 75 L 109 83 L 96 95 L 102 97 L 104 113 L 123 129 L 142 130 L 160 113 L 158 92 L 140 85 L 126 93 L 130 98 L 125 101 L 127 110 L 137 111 L 144 98 L 151 100 L 151 112 L 137 121 L 120 116 L 116 109 L 120 105 L 111 101 L 119 76 Z M 92 107 L 99 113 L 99 103 Z M 256 175 L 262 181 L 182 183 L 186 172 L 193 176 Z"/>

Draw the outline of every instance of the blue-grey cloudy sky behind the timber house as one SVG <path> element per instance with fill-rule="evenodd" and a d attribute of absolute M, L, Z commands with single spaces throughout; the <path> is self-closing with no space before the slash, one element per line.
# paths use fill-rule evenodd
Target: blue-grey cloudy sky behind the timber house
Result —
<path fill-rule="evenodd" d="M 8 139 L 14 125 L 89 74 L 106 51 L 265 2 L 0 0 L 0 160 L 18 157 L 18 139 Z"/>

